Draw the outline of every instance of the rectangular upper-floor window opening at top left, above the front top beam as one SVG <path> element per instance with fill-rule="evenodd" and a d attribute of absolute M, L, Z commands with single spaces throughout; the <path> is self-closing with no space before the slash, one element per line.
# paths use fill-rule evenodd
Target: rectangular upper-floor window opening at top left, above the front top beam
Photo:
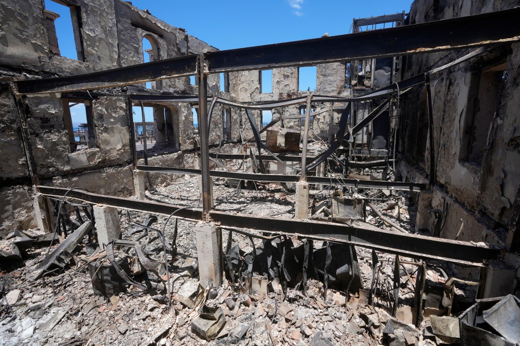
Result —
<path fill-rule="evenodd" d="M 49 46 L 56 55 L 84 61 L 80 7 L 58 0 L 44 0 Z"/>

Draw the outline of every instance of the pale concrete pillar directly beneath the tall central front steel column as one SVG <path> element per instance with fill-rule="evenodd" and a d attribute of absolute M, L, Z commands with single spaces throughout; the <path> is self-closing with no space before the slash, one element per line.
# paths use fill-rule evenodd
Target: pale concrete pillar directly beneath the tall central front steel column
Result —
<path fill-rule="evenodd" d="M 222 285 L 220 267 L 220 232 L 212 223 L 200 222 L 195 225 L 197 257 L 199 259 L 199 280 L 204 287 Z"/>

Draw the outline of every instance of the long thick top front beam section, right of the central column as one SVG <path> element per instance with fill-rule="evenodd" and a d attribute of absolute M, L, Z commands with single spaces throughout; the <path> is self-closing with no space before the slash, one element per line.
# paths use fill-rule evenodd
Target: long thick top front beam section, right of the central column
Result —
<path fill-rule="evenodd" d="M 404 56 L 520 39 L 520 8 L 206 54 L 210 73 Z"/>

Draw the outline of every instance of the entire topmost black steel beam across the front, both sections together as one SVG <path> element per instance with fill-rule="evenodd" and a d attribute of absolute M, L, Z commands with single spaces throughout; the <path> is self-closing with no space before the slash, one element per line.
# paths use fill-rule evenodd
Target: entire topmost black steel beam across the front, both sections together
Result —
<path fill-rule="evenodd" d="M 209 73 L 404 56 L 520 41 L 520 8 L 204 54 Z M 82 75 L 17 81 L 18 94 L 93 90 L 196 73 L 194 55 Z"/>

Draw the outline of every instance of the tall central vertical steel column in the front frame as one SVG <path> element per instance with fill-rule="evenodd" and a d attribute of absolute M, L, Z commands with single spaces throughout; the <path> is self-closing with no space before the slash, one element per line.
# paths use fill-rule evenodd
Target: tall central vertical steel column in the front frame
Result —
<path fill-rule="evenodd" d="M 197 81 L 199 84 L 199 137 L 200 137 L 200 169 L 202 179 L 202 208 L 205 217 L 211 210 L 211 177 L 210 177 L 210 144 L 209 126 L 207 124 L 207 76 L 204 73 L 204 55 L 199 55 Z"/>

